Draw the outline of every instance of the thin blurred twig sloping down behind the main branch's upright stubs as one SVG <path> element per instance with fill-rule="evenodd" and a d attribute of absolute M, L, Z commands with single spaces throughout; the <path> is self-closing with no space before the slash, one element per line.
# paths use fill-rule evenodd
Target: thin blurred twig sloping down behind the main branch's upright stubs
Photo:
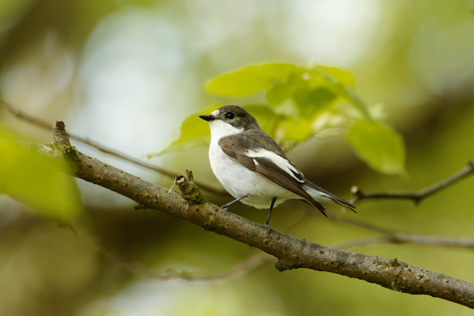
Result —
<path fill-rule="evenodd" d="M 29 116 L 28 114 L 26 113 L 23 113 L 19 110 L 17 110 L 16 108 L 13 108 L 9 103 L 5 102 L 4 100 L 1 100 L 0 99 L 0 103 L 3 104 L 3 106 L 11 113 L 13 114 L 15 117 L 25 121 L 25 122 L 28 122 L 32 125 L 35 125 L 35 126 L 38 126 L 38 127 L 41 127 L 41 128 L 44 128 L 44 129 L 47 129 L 47 130 L 51 130 L 51 124 L 39 119 L 39 118 L 36 118 L 36 117 L 32 117 L 32 116 Z M 111 148 L 107 148 L 106 146 L 104 145 L 101 145 L 97 142 L 94 142 L 93 140 L 87 138 L 87 137 L 81 137 L 81 136 L 78 136 L 78 135 L 74 135 L 74 134 L 71 134 L 71 133 L 68 133 L 69 135 L 69 138 L 72 138 L 78 142 L 81 142 L 82 144 L 86 144 L 86 145 L 89 145 L 91 147 L 94 147 L 95 149 L 99 150 L 100 152 L 102 153 L 107 153 L 109 155 L 112 155 L 112 156 L 115 156 L 115 157 L 118 157 L 120 159 L 123 159 L 123 160 L 126 160 L 130 163 L 134 163 L 136 165 L 139 165 L 141 167 L 145 167 L 147 169 L 150 169 L 150 170 L 153 170 L 153 171 L 156 171 L 156 172 L 159 172 L 165 176 L 168 176 L 168 177 L 171 177 L 171 178 L 176 178 L 179 176 L 178 173 L 176 172 L 173 172 L 173 171 L 169 171 L 169 170 L 166 170 L 164 168 L 161 168 L 161 167 L 158 167 L 152 163 L 147 163 L 145 161 L 142 161 L 140 159 L 137 159 L 137 158 L 134 158 L 132 156 L 129 156 L 128 154 L 126 153 L 120 153 L 116 150 L 113 150 Z M 201 189 L 203 190 L 206 190 L 210 193 L 214 193 L 216 195 L 221 195 L 221 196 L 225 196 L 225 195 L 228 195 L 227 191 L 225 190 L 220 190 L 220 189 L 216 189 L 214 187 L 211 187 L 210 185 L 207 185 L 205 183 L 201 183 L 201 182 L 196 182 L 196 185 L 198 187 L 200 187 Z"/>

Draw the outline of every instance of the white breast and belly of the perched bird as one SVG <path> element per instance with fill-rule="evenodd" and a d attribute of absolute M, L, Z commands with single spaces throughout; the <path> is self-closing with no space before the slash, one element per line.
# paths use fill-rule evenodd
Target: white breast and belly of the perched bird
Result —
<path fill-rule="evenodd" d="M 244 204 L 255 208 L 270 208 L 274 197 L 277 197 L 275 206 L 286 199 L 301 199 L 230 158 L 220 149 L 217 142 L 210 144 L 209 160 L 217 179 L 234 198 L 248 195 L 247 198 L 240 200 Z"/>

